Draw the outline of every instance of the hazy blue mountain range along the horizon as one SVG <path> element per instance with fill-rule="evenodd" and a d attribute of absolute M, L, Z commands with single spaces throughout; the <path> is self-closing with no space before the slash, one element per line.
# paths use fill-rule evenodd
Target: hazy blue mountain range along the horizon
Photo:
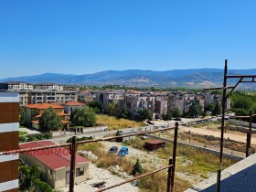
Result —
<path fill-rule="evenodd" d="M 256 75 L 256 69 L 229 69 L 229 75 Z M 166 71 L 153 70 L 106 70 L 93 74 L 72 75 L 44 73 L 41 75 L 7 78 L 5 81 L 26 81 L 30 83 L 55 82 L 77 85 L 116 84 L 137 87 L 193 87 L 208 88 L 221 86 L 223 69 L 175 69 Z M 237 80 L 229 81 L 235 83 Z M 253 83 L 240 86 L 249 89 Z"/>

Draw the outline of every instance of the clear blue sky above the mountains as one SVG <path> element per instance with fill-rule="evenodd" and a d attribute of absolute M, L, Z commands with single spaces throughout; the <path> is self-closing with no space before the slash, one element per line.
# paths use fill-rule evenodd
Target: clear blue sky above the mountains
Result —
<path fill-rule="evenodd" d="M 0 79 L 256 68 L 255 0 L 2 0 Z"/>

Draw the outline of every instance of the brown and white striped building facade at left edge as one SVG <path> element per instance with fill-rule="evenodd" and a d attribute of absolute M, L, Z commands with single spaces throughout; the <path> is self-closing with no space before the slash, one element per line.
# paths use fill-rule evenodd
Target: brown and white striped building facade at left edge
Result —
<path fill-rule="evenodd" d="M 0 91 L 0 152 L 18 149 L 18 92 Z M 18 191 L 18 156 L 0 155 L 0 190 Z"/>

